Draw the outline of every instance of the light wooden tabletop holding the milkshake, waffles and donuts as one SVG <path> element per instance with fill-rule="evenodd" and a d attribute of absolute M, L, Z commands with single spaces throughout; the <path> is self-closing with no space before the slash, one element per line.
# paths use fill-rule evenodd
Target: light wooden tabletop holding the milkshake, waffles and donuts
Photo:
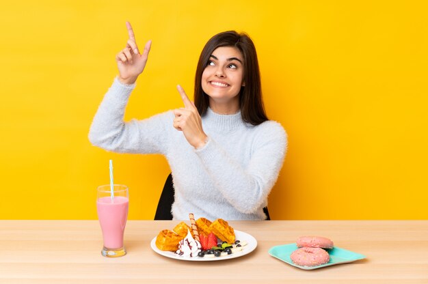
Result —
<path fill-rule="evenodd" d="M 0 221 L 0 283 L 428 283 L 428 221 L 236 221 L 258 241 L 249 255 L 179 261 L 150 240 L 176 221 L 129 221 L 128 254 L 101 256 L 98 221 Z M 271 246 L 304 235 L 366 255 L 351 264 L 300 270 L 271 257 Z"/>

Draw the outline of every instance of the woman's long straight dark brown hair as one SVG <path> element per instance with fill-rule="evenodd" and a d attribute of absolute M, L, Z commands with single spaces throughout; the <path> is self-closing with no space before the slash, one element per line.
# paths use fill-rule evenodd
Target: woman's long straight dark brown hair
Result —
<path fill-rule="evenodd" d="M 202 89 L 202 72 L 204 72 L 213 51 L 220 46 L 236 47 L 243 55 L 245 87 L 241 87 L 239 92 L 239 108 L 241 109 L 243 121 L 258 125 L 269 120 L 263 106 L 256 47 L 246 33 L 237 33 L 236 31 L 217 33 L 206 42 L 202 49 L 195 76 L 194 100 L 198 112 L 202 116 L 209 107 L 209 96 Z"/>

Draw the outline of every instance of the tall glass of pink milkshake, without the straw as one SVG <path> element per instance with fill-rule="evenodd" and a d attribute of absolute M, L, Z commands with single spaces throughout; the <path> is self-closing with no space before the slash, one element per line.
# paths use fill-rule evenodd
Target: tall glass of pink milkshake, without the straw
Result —
<path fill-rule="evenodd" d="M 104 247 L 101 253 L 106 257 L 119 257 L 126 254 L 124 249 L 124 229 L 128 216 L 128 188 L 114 185 L 114 197 L 111 199 L 109 186 L 98 187 L 96 209 L 103 231 Z"/>

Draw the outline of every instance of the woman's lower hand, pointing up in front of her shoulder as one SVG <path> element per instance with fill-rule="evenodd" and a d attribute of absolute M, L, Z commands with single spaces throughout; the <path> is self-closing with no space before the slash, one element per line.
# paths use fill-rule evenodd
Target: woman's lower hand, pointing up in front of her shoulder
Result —
<path fill-rule="evenodd" d="M 208 137 L 202 129 L 202 120 L 195 104 L 189 100 L 184 89 L 180 85 L 177 86 L 177 89 L 185 107 L 174 110 L 174 128 L 183 131 L 187 142 L 198 149 L 205 145 Z"/>

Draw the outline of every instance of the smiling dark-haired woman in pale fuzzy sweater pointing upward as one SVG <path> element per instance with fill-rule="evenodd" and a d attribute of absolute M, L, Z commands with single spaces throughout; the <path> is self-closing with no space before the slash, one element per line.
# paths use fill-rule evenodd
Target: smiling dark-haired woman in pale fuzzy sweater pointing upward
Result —
<path fill-rule="evenodd" d="M 189 212 L 210 220 L 263 220 L 286 152 L 286 132 L 263 109 L 256 49 L 245 34 L 219 33 L 204 46 L 195 78 L 195 102 L 179 85 L 184 107 L 123 122 L 151 42 L 139 53 L 133 29 L 116 55 L 119 75 L 89 133 L 92 144 L 126 153 L 160 153 L 174 179 L 172 216 Z"/>

